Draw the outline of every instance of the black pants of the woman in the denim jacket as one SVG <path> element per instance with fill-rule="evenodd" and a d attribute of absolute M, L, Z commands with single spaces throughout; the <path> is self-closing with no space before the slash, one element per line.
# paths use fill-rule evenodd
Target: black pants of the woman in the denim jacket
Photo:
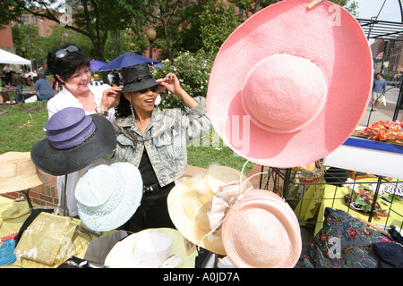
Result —
<path fill-rule="evenodd" d="M 162 227 L 176 229 L 167 210 L 167 196 L 174 187 L 175 183 L 172 182 L 163 188 L 143 193 L 141 205 L 124 224 L 124 231 L 138 232 Z"/>

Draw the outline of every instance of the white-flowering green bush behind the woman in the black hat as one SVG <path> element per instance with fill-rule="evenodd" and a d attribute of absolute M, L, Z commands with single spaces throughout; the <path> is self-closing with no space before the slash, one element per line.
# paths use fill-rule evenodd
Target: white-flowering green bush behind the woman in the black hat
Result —
<path fill-rule="evenodd" d="M 167 73 L 174 72 L 181 82 L 182 88 L 192 97 L 206 97 L 210 71 L 214 58 L 203 51 L 196 54 L 182 52 L 174 63 L 162 61 L 161 66 L 154 66 L 151 73 L 154 79 L 162 79 Z M 184 107 L 179 97 L 165 91 L 160 94 L 161 108 Z"/>

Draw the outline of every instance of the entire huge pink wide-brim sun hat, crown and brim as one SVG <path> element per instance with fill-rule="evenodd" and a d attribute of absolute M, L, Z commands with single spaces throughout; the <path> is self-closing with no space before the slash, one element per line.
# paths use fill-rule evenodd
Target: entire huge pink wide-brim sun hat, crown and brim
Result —
<path fill-rule="evenodd" d="M 256 164 L 295 167 L 356 129 L 373 85 L 371 49 L 344 8 L 284 0 L 255 13 L 219 49 L 207 112 L 219 137 Z"/>

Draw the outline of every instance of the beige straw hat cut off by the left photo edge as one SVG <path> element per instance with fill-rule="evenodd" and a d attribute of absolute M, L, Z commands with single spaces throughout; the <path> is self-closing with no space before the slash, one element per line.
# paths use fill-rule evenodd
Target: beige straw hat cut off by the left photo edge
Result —
<path fill-rule="evenodd" d="M 0 155 L 0 194 L 30 189 L 47 182 L 30 159 L 30 152 L 7 152 Z"/>

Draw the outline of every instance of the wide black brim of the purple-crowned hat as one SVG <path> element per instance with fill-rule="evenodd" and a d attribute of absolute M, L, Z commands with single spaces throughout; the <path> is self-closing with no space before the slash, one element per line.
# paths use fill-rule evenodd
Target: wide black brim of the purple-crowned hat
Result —
<path fill-rule="evenodd" d="M 99 114 L 90 117 L 96 126 L 91 137 L 69 149 L 56 149 L 48 139 L 30 148 L 32 162 L 42 171 L 54 176 L 76 172 L 107 156 L 116 148 L 116 132 L 111 122 Z"/>

